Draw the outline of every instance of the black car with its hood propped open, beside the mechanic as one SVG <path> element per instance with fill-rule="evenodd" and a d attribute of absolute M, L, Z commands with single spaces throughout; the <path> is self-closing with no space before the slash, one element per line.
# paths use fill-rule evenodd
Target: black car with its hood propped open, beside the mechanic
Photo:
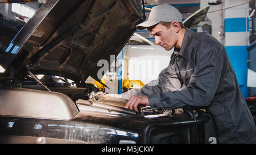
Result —
<path fill-rule="evenodd" d="M 101 79 L 97 62 L 117 56 L 144 19 L 141 0 L 52 0 L 12 32 L 14 39 L 1 33 L 10 43 L 1 40 L 0 143 L 215 143 L 204 110 L 137 113 L 85 83 Z"/>

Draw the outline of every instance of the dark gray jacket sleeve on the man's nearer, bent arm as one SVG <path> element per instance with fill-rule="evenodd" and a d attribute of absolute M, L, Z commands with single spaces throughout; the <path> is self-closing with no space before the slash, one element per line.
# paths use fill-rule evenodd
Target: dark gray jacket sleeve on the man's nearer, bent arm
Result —
<path fill-rule="evenodd" d="M 151 108 L 179 108 L 185 104 L 208 106 L 216 93 L 223 66 L 222 45 L 202 41 L 195 52 L 195 71 L 189 84 L 179 91 L 167 91 L 148 96 Z"/>

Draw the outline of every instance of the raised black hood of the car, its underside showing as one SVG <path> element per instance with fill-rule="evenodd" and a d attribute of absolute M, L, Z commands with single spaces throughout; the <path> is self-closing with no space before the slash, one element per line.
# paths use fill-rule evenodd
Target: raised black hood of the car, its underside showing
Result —
<path fill-rule="evenodd" d="M 144 19 L 142 0 L 47 1 L 0 53 L 3 74 L 101 79 L 98 61 L 110 64 Z"/>

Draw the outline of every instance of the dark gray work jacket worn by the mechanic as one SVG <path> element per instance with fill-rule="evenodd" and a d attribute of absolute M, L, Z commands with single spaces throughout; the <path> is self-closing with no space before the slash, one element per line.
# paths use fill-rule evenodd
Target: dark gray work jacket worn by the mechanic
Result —
<path fill-rule="evenodd" d="M 151 108 L 205 107 L 213 115 L 218 143 L 256 143 L 255 124 L 225 47 L 208 33 L 186 28 L 181 49 L 158 79 L 122 97 L 147 95 Z"/>

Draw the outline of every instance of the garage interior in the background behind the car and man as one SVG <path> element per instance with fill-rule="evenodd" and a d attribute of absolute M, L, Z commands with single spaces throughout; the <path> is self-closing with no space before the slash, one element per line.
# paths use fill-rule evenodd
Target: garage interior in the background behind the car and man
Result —
<path fill-rule="evenodd" d="M 15 30 L 12 35 L 15 36 L 46 2 L 47 0 L 0 1 L 0 27 L 12 27 Z M 207 32 L 225 46 L 243 97 L 246 101 L 254 102 L 249 108 L 254 112 L 255 121 L 255 0 L 144 0 L 146 20 L 152 7 L 162 4 L 176 7 L 184 21 L 195 15 L 197 10 L 209 6 L 207 16 L 192 31 Z M 37 35 L 41 35 L 40 32 Z M 5 34 L 0 34 L 0 37 L 4 40 Z M 11 40 L 8 41 L 10 43 Z M 6 44 L 0 42 L 0 50 L 5 51 L 8 48 Z M 112 64 L 109 64 L 108 72 L 101 81 L 89 76 L 85 83 L 91 83 L 104 93 L 122 94 L 130 89 L 140 89 L 158 78 L 159 73 L 170 63 L 173 52 L 174 49 L 166 51 L 155 45 L 154 36 L 146 29 L 137 30 L 118 55 L 110 55 Z M 0 72 L 4 72 L 1 69 Z M 40 79 L 43 75 L 36 77 Z"/>

